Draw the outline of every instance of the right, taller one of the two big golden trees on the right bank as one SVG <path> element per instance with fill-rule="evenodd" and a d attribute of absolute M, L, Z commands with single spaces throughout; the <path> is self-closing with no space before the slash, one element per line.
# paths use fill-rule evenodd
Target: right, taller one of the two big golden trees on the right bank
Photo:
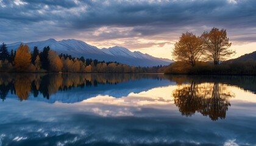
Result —
<path fill-rule="evenodd" d="M 234 50 L 229 47 L 226 29 L 217 29 L 213 27 L 210 32 L 204 32 L 201 36 L 204 41 L 205 59 L 213 61 L 214 64 L 219 64 L 219 61 L 224 61 L 231 55 L 235 54 Z"/>

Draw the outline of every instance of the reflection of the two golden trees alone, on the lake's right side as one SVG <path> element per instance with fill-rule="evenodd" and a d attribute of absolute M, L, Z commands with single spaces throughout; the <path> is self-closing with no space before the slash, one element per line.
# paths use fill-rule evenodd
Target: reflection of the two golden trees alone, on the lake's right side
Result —
<path fill-rule="evenodd" d="M 227 85 L 218 82 L 179 85 L 172 92 L 174 103 L 184 116 L 199 112 L 212 120 L 224 119 L 230 106 L 229 99 L 235 97 Z"/>

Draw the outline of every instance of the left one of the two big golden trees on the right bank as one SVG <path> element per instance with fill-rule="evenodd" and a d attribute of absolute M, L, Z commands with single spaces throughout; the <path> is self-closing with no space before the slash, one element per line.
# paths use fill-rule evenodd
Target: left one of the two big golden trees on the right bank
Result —
<path fill-rule="evenodd" d="M 174 44 L 172 57 L 176 61 L 185 61 L 185 63 L 195 66 L 203 54 L 202 40 L 192 32 L 182 33 L 180 40 Z"/>

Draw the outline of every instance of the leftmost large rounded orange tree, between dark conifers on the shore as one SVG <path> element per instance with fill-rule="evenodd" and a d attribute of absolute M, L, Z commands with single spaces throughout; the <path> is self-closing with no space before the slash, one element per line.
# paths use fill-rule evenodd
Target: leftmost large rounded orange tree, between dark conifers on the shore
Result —
<path fill-rule="evenodd" d="M 31 54 L 29 47 L 25 44 L 21 44 L 16 50 L 16 55 L 14 58 L 15 68 L 18 72 L 24 72 L 31 63 Z"/>

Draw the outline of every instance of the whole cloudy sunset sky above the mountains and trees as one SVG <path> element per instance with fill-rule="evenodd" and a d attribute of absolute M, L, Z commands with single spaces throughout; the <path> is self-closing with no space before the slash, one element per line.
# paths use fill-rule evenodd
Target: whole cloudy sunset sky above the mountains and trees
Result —
<path fill-rule="evenodd" d="M 226 29 L 236 50 L 256 50 L 255 0 L 0 0 L 0 42 L 77 39 L 172 59 L 182 33 Z"/>

